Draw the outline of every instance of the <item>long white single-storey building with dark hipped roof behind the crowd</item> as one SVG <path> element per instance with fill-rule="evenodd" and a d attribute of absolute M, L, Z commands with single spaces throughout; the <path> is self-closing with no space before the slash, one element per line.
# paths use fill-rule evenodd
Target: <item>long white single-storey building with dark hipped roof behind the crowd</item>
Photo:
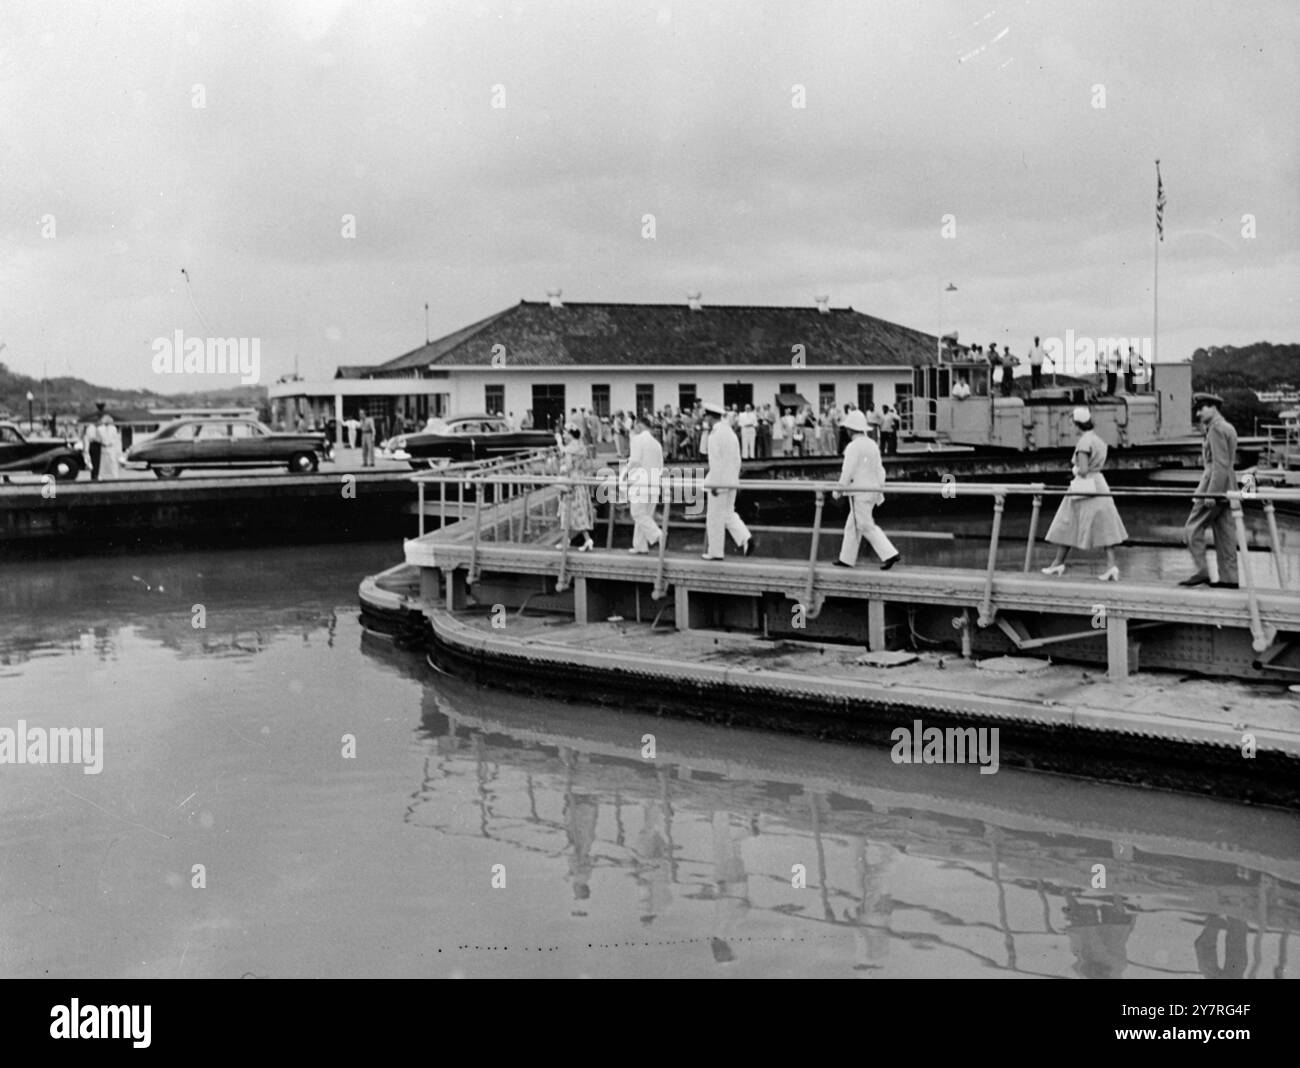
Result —
<path fill-rule="evenodd" d="M 712 400 L 898 407 L 937 339 L 853 308 L 521 300 L 376 366 L 270 387 L 274 421 L 298 426 L 369 412 L 389 433 L 430 414 L 573 408 L 606 416 Z M 905 405 L 906 408 L 906 405 Z"/>

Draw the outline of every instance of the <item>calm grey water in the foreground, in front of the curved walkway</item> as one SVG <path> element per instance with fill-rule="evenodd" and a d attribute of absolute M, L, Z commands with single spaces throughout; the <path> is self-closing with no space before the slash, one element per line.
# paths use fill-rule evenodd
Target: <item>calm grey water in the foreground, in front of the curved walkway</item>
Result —
<path fill-rule="evenodd" d="M 476 690 L 398 553 L 0 563 L 0 726 L 104 729 L 0 765 L 0 974 L 1297 973 L 1290 813 Z"/>

